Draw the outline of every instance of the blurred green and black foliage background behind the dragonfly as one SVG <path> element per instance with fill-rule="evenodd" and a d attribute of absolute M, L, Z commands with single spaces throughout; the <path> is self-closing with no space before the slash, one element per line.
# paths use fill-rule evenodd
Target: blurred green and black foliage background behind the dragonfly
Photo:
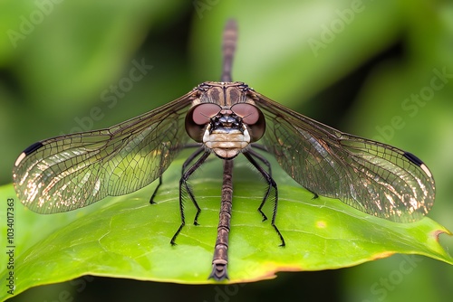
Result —
<path fill-rule="evenodd" d="M 419 156 L 437 183 L 429 217 L 453 230 L 451 1 L 2 0 L 0 184 L 11 183 L 16 156 L 37 140 L 109 127 L 218 80 L 231 17 L 239 24 L 234 80 Z M 453 248 L 447 236 L 440 241 Z M 278 275 L 226 287 L 85 277 L 12 301 L 447 301 L 453 294 L 453 269 L 419 256 Z"/>

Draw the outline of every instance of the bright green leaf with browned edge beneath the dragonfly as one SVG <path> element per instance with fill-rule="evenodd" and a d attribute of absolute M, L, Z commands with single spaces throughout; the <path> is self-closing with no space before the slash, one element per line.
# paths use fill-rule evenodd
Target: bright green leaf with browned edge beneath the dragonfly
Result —
<path fill-rule="evenodd" d="M 14 294 L 87 274 L 213 283 L 207 276 L 217 234 L 220 161 L 203 166 L 203 173 L 191 179 L 202 209 L 200 225 L 191 223 L 195 210 L 191 203 L 185 203 L 187 225 L 179 234 L 178 245 L 171 246 L 169 241 L 180 223 L 176 188 L 183 160 L 181 156 L 164 174 L 157 204 L 152 205 L 149 196 L 155 184 L 74 212 L 39 215 L 19 204 L 12 185 L 4 186 L 1 199 L 14 198 L 15 202 Z M 256 211 L 265 184 L 238 158 L 228 250 L 230 282 L 274 278 L 275 272 L 283 270 L 350 267 L 394 253 L 425 255 L 453 264 L 438 241 L 440 233 L 450 233 L 437 222 L 429 218 L 413 223 L 389 222 L 338 200 L 313 199 L 312 193 L 295 185 L 277 166 L 274 170 L 280 197 L 276 224 L 286 247 L 279 247 L 270 222 L 261 222 Z M 271 217 L 272 204 L 267 203 L 264 210 Z M 5 217 L 6 207 L 1 211 Z M 4 234 L 5 228 L 3 223 Z M 4 268 L 0 278 L 5 279 L 8 273 Z M 2 294 L 0 299 L 8 297 Z"/>

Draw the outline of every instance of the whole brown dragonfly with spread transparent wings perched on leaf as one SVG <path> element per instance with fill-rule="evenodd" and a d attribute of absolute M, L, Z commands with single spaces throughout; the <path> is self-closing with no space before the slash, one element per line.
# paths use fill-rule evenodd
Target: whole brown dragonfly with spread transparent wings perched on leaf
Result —
<path fill-rule="evenodd" d="M 236 156 L 263 175 L 267 189 L 258 212 L 273 203 L 271 225 L 281 246 L 284 236 L 275 224 L 278 190 L 271 165 L 277 163 L 313 198 L 331 197 L 392 222 L 424 217 L 435 199 L 434 178 L 417 156 L 395 146 L 356 137 L 307 118 L 231 79 L 236 51 L 236 21 L 226 23 L 220 81 L 199 84 L 182 97 L 116 126 L 53 137 L 34 143 L 14 163 L 14 188 L 24 206 L 38 213 L 67 212 L 107 196 L 132 193 L 158 181 L 179 151 L 196 151 L 182 166 L 179 181 L 181 224 L 184 199 L 201 209 L 188 184 L 209 156 L 223 161 L 224 178 L 217 241 L 209 278 L 228 278 L 228 234 L 233 202 L 232 171 Z M 257 152 L 260 151 L 260 152 Z M 185 197 L 186 196 L 186 197 Z"/>

